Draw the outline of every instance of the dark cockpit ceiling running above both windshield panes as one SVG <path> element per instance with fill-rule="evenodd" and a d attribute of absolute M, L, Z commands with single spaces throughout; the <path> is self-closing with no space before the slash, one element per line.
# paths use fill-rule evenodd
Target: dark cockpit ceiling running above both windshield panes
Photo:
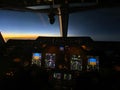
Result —
<path fill-rule="evenodd" d="M 53 5 L 53 8 L 69 5 L 70 8 L 76 9 L 91 5 L 113 7 L 120 6 L 120 3 L 118 3 L 118 0 L 0 0 L 1 9 L 41 10 L 48 9 L 49 5 Z"/>

